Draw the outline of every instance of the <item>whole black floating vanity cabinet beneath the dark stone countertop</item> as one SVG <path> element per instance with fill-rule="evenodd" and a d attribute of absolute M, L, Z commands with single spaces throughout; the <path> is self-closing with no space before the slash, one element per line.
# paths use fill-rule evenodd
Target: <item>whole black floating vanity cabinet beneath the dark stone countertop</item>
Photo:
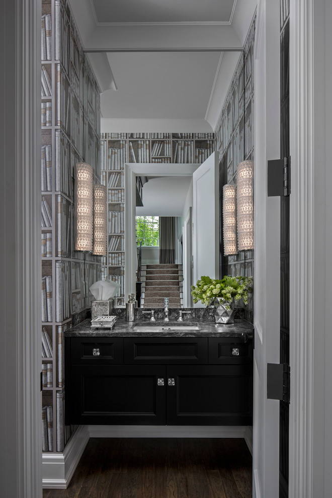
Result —
<path fill-rule="evenodd" d="M 68 337 L 65 381 L 66 424 L 252 424 L 241 338 Z"/>

